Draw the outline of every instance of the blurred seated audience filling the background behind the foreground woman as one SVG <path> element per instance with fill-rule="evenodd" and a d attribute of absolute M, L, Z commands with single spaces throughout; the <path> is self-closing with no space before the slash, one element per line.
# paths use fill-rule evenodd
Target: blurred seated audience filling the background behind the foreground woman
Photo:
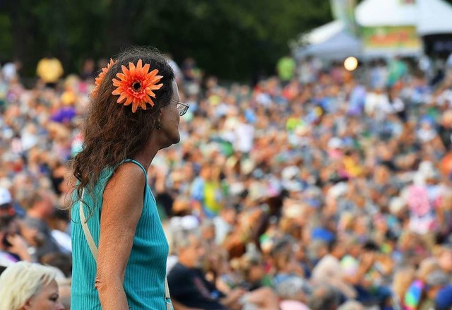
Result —
<path fill-rule="evenodd" d="M 24 304 L 69 309 L 68 162 L 107 62 L 43 60 L 32 88 L 1 68 L 0 300 L 47 268 Z M 190 108 L 148 182 L 175 310 L 452 308 L 451 68 L 287 56 L 250 87 L 169 61 Z"/>

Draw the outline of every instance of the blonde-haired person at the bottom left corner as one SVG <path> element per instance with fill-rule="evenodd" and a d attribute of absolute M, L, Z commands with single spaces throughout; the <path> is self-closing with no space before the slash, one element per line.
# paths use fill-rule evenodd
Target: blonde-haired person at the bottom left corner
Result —
<path fill-rule="evenodd" d="M 20 261 L 0 275 L 0 309 L 64 310 L 54 268 Z"/>

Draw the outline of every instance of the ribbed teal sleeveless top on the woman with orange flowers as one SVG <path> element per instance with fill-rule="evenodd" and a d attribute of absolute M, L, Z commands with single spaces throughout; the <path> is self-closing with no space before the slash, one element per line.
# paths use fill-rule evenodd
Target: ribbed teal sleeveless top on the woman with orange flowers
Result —
<path fill-rule="evenodd" d="M 126 160 L 125 162 L 133 162 L 141 167 L 146 180 L 148 179 L 146 170 L 139 162 L 135 160 Z M 94 202 L 87 191 L 83 196 L 83 201 L 88 203 L 93 210 L 93 214 L 88 219 L 88 227 L 96 246 L 99 245 L 102 194 L 112 174 L 112 169 L 105 169 L 102 172 L 94 189 Z M 71 208 L 73 220 L 71 309 L 102 309 L 99 295 L 95 289 L 97 265 L 85 234 L 83 234 L 78 209 L 79 201 L 73 198 Z M 85 217 L 88 218 L 89 210 L 85 206 L 84 211 Z M 155 198 L 146 182 L 143 212 L 138 220 L 135 237 L 133 237 L 133 246 L 124 277 L 124 291 L 129 302 L 129 309 L 166 309 L 165 277 L 168 251 L 169 246 L 157 213 Z"/>

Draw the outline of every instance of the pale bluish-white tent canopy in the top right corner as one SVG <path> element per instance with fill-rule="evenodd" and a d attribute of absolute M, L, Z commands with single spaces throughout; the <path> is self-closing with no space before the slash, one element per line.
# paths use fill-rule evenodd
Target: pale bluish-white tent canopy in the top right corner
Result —
<path fill-rule="evenodd" d="M 452 6 L 442 0 L 417 0 L 417 33 L 452 33 Z"/>

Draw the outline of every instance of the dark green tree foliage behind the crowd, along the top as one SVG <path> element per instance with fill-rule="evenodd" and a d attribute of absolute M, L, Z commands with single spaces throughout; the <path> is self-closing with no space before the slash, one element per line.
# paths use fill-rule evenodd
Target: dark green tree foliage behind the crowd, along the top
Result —
<path fill-rule="evenodd" d="M 6 0 L 0 2 L 0 59 L 17 56 L 32 75 L 45 54 L 77 72 L 85 58 L 131 44 L 193 56 L 208 74 L 247 80 L 273 73 L 300 32 L 331 20 L 319 0 Z"/>

